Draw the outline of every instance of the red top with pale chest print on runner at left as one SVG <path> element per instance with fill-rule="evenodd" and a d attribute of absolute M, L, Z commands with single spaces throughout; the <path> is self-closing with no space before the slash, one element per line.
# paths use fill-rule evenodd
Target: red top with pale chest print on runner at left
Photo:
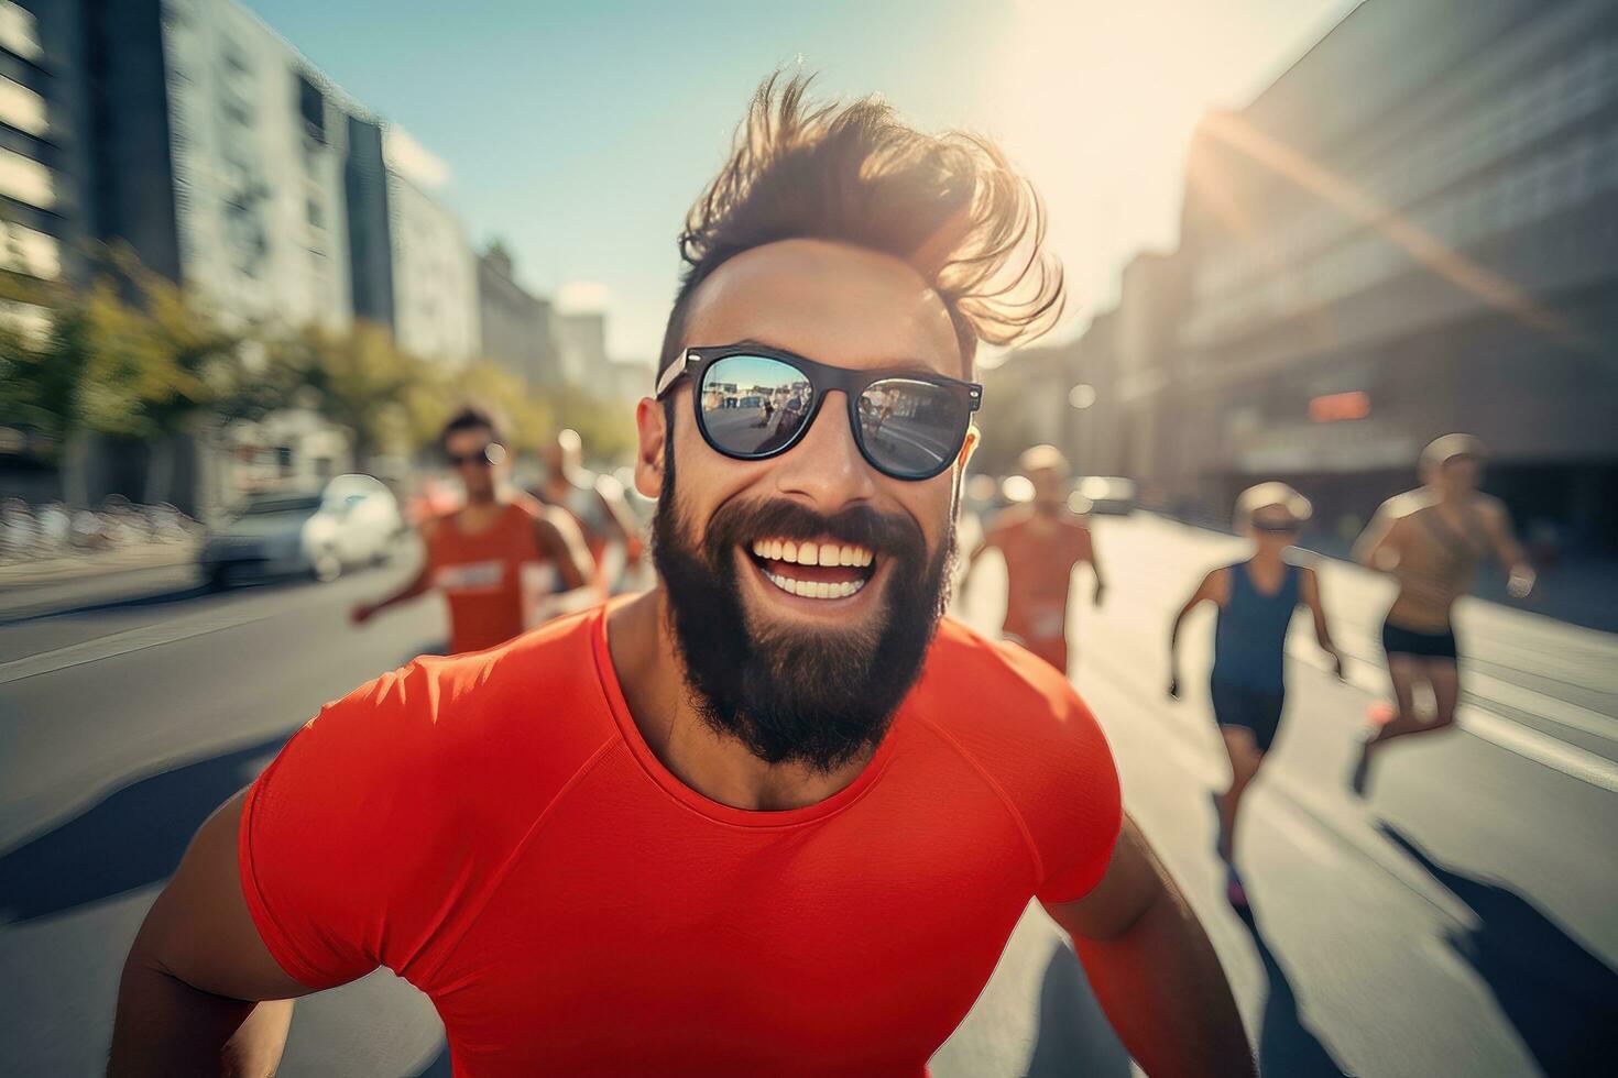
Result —
<path fill-rule="evenodd" d="M 429 525 L 427 572 L 450 603 L 450 655 L 482 651 L 523 632 L 523 567 L 545 561 L 534 535 L 539 503 L 519 496 L 481 532 L 458 512 Z"/>

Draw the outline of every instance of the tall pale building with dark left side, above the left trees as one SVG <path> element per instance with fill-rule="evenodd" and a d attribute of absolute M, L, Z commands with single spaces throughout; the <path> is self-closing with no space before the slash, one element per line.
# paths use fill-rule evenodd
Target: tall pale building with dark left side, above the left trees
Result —
<path fill-rule="evenodd" d="M 92 233 L 225 323 L 346 325 L 346 110 L 231 0 L 86 3 Z"/>

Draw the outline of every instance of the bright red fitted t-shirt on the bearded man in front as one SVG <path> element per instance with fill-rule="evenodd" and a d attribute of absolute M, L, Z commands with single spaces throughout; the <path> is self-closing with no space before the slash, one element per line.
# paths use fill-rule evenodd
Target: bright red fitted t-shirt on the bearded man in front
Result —
<path fill-rule="evenodd" d="M 1055 671 L 945 621 L 869 766 L 790 811 L 712 802 L 629 718 L 605 608 L 327 705 L 241 818 L 288 975 L 385 965 L 456 1075 L 922 1075 L 1032 895 L 1102 878 L 1100 729 Z"/>

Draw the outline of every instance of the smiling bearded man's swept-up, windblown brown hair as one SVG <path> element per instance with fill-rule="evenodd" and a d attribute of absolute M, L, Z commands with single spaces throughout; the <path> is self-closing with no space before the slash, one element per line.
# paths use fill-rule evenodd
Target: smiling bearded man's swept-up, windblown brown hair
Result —
<path fill-rule="evenodd" d="M 775 73 L 752 95 L 730 160 L 686 215 L 684 270 L 659 372 L 680 352 L 691 297 L 728 259 L 781 239 L 827 239 L 901 259 L 977 343 L 1031 339 L 1061 315 L 1061 263 L 1044 249 L 1039 196 L 1000 150 L 961 131 L 930 136 L 877 97 L 809 105 L 814 76 Z"/>

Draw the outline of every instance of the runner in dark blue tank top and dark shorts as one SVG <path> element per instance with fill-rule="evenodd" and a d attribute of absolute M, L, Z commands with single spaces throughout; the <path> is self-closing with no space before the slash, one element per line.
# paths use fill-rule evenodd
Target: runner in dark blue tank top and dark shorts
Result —
<path fill-rule="evenodd" d="M 1336 676 L 1343 676 L 1343 656 L 1325 624 L 1319 577 L 1314 569 L 1283 559 L 1311 512 L 1309 499 L 1286 483 L 1259 483 L 1243 491 L 1236 499 L 1236 530 L 1252 540 L 1252 556 L 1202 577 L 1168 634 L 1168 695 L 1180 700 L 1180 624 L 1197 603 L 1218 606 L 1209 695 L 1231 774 L 1230 789 L 1215 797 L 1218 855 L 1228 866 L 1226 897 L 1238 908 L 1247 905 L 1247 892 L 1235 866 L 1236 813 L 1281 726 L 1286 630 L 1299 604 L 1309 608 L 1315 640 L 1332 656 Z"/>

